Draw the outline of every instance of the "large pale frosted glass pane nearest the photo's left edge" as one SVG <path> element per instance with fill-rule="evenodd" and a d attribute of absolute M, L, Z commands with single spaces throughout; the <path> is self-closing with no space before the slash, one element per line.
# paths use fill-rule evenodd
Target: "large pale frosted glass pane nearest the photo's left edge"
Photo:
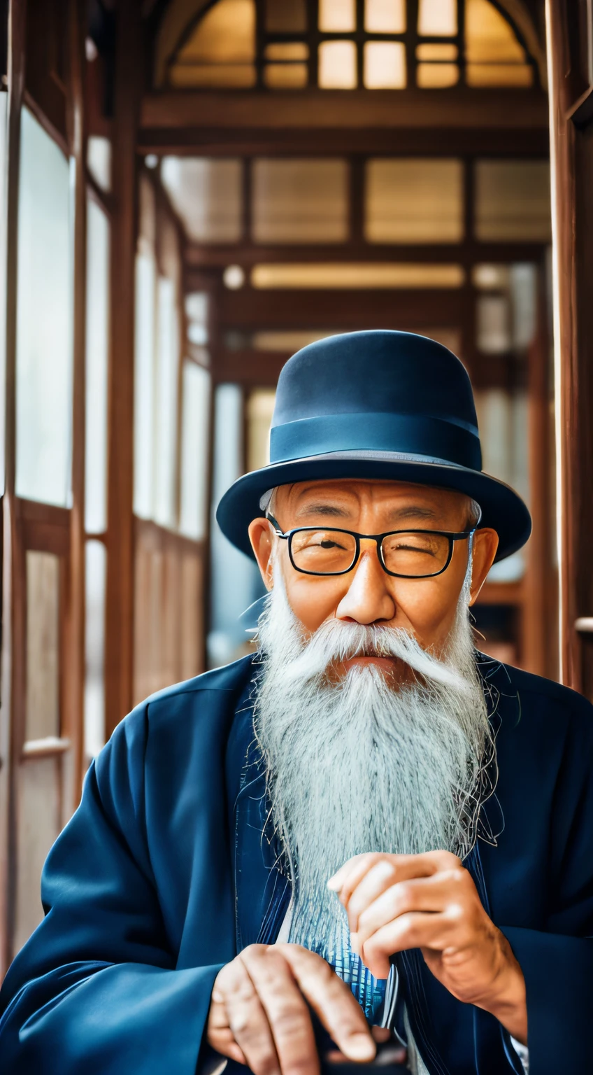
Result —
<path fill-rule="evenodd" d="M 16 309 L 16 492 L 61 505 L 68 505 L 71 489 L 70 201 L 68 161 L 24 109 Z"/>

